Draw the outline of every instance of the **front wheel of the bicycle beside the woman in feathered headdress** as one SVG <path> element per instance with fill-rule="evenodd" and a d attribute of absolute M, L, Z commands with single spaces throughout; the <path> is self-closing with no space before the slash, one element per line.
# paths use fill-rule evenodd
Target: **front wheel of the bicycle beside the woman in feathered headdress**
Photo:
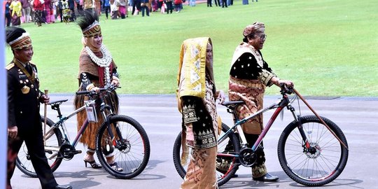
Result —
<path fill-rule="evenodd" d="M 109 118 L 111 125 L 116 124 L 122 133 L 123 140 L 127 141 L 127 148 L 114 148 L 107 128 L 108 125 L 103 123 L 97 133 L 96 153 L 102 167 L 118 179 L 132 179 L 141 174 L 148 164 L 150 158 L 150 141 L 144 128 L 129 116 L 116 115 Z M 119 139 L 116 133 L 113 133 L 116 139 Z M 101 137 L 100 137 L 101 136 Z M 106 146 L 106 148 L 102 148 Z M 113 153 L 114 161 L 119 167 L 123 168 L 122 172 L 118 172 L 111 168 L 106 162 L 104 153 Z"/>

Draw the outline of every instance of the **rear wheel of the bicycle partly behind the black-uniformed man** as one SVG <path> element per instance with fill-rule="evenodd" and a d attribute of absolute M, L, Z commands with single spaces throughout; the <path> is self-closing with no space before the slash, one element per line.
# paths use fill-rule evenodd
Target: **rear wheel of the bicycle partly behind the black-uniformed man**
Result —
<path fill-rule="evenodd" d="M 44 122 L 43 116 L 41 116 L 41 120 L 42 122 Z M 52 125 L 54 125 L 54 122 L 52 122 L 52 120 L 50 120 L 49 118 L 46 118 L 46 125 L 48 125 L 48 127 L 52 127 Z M 60 132 L 59 129 L 55 128 L 54 134 L 52 134 L 52 136 L 46 140 L 46 146 L 56 146 L 57 148 L 59 148 L 59 146 L 62 146 L 62 143 L 62 132 Z M 48 155 L 51 154 L 51 151 L 45 151 L 45 153 L 46 157 L 48 157 Z M 48 165 L 50 165 L 52 172 L 55 172 L 55 170 L 61 163 L 62 158 L 53 158 L 51 160 L 48 159 Z M 22 173 L 26 174 L 27 176 L 37 178 L 37 174 L 29 158 L 29 153 L 27 151 L 25 141 L 22 143 L 20 151 L 18 152 L 18 157 L 15 164 Z"/>

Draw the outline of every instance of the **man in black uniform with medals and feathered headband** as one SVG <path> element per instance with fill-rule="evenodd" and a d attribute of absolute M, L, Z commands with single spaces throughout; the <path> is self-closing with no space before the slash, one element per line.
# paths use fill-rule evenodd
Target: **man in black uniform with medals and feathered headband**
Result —
<path fill-rule="evenodd" d="M 31 39 L 25 29 L 6 29 L 6 43 L 13 52 L 13 60 L 6 66 L 8 75 L 8 176 L 7 188 L 15 170 L 15 159 L 25 141 L 38 179 L 43 189 L 71 188 L 59 186 L 48 165 L 43 146 L 43 134 L 39 104 L 50 98 L 39 90 Z"/>

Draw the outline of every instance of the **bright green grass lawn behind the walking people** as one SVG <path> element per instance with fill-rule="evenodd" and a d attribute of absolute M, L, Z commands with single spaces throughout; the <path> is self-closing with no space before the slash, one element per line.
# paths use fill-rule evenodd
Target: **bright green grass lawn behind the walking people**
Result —
<path fill-rule="evenodd" d="M 174 94 L 181 43 L 211 37 L 219 89 L 228 90 L 235 47 L 246 25 L 265 22 L 262 55 L 304 95 L 378 96 L 378 4 L 375 0 L 234 1 L 229 8 L 184 5 L 181 13 L 125 20 L 100 18 L 104 44 L 118 65 L 123 94 Z M 75 92 L 81 31 L 75 23 L 22 25 L 34 46 L 41 89 Z M 6 50 L 6 62 L 12 52 Z M 276 87 L 267 94 L 279 94 Z"/>

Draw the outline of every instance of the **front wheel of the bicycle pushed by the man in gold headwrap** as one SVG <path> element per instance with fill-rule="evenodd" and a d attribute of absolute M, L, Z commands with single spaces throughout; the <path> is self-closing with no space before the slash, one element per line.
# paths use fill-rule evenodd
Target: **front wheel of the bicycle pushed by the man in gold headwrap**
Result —
<path fill-rule="evenodd" d="M 321 117 L 335 132 L 337 137 L 348 146 L 340 128 L 327 118 Z M 302 128 L 311 146 L 316 146 L 316 153 L 304 151 L 302 137 L 293 121 L 283 130 L 278 143 L 278 157 L 283 171 L 293 181 L 304 186 L 323 186 L 332 182 L 342 173 L 348 160 L 348 150 L 316 118 L 299 118 Z"/>

